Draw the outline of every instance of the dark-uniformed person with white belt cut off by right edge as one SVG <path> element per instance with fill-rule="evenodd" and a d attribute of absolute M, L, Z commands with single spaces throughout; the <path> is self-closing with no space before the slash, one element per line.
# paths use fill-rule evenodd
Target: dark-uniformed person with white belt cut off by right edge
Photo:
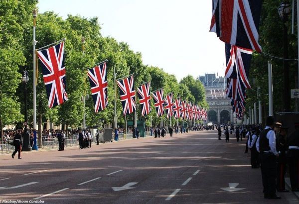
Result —
<path fill-rule="evenodd" d="M 287 137 L 292 191 L 299 192 L 299 122 L 295 123 L 295 131 Z"/>

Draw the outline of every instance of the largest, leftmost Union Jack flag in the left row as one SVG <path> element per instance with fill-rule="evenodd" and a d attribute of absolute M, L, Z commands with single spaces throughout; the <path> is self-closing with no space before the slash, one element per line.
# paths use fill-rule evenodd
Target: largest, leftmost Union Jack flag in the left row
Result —
<path fill-rule="evenodd" d="M 42 75 L 48 96 L 48 106 L 52 108 L 67 101 L 65 91 L 64 43 L 37 52 L 41 61 Z"/>

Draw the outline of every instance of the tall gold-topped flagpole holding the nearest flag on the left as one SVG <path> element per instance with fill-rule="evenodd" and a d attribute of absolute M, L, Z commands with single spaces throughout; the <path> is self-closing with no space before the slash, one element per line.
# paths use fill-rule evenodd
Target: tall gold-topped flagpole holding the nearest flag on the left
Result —
<path fill-rule="evenodd" d="M 38 150 L 37 138 L 36 138 L 36 53 L 35 53 L 35 27 L 36 27 L 36 16 L 37 10 L 34 8 L 32 12 L 33 16 L 33 147 L 32 150 Z"/>

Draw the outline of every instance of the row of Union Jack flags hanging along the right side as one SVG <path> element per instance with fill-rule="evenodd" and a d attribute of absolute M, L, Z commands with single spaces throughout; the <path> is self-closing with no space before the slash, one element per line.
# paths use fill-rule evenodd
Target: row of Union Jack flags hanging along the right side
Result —
<path fill-rule="evenodd" d="M 246 105 L 246 89 L 253 50 L 259 45 L 261 0 L 213 0 L 210 31 L 225 43 L 227 80 L 226 97 L 237 118 L 242 119 Z"/>

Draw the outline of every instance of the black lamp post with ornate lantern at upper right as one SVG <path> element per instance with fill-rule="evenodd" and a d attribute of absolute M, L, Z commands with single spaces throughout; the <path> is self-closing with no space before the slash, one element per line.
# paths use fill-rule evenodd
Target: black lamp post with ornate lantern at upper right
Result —
<path fill-rule="evenodd" d="M 286 23 L 288 21 L 288 15 L 291 12 L 290 3 L 282 2 L 278 8 L 278 13 L 280 17 L 283 19 L 284 22 L 284 33 L 283 33 L 283 52 L 284 52 L 284 59 L 288 59 L 288 30 Z M 289 77 L 289 62 L 288 60 L 284 60 L 284 92 L 283 92 L 283 104 L 284 110 L 283 111 L 290 111 L 291 109 L 291 93 L 290 93 L 290 77 Z"/>

